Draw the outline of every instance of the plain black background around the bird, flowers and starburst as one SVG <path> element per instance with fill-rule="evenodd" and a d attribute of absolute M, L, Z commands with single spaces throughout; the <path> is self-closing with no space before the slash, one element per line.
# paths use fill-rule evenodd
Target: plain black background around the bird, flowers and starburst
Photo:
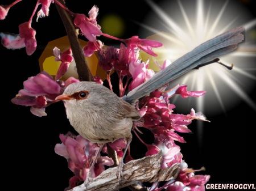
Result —
<path fill-rule="evenodd" d="M 1 0 L 0 5 L 8 5 L 10 2 L 12 1 Z M 237 2 L 255 16 L 255 1 Z M 34 5 L 35 1 L 27 0 L 11 8 L 7 18 L 0 21 L 0 31 L 19 33 L 18 25 L 28 21 Z M 99 22 L 108 12 L 122 16 L 126 24 L 126 31 L 120 36 L 123 39 L 137 35 L 139 26 L 131 20 L 143 22 L 143 17 L 151 9 L 143 1 L 67 0 L 70 10 L 86 16 L 93 5 L 100 8 Z M 49 13 L 47 18 L 39 19 L 38 23 L 33 19 L 32 28 L 36 29 L 38 48 L 32 56 L 27 56 L 25 49 L 6 50 L 0 46 L 3 113 L 1 174 L 5 177 L 2 184 L 14 188 L 64 190 L 68 186 L 69 178 L 73 176 L 67 167 L 67 161 L 54 152 L 56 143 L 60 143 L 60 133 L 75 133 L 67 120 L 63 104 L 56 103 L 47 107 L 48 116 L 40 118 L 32 115 L 29 107 L 15 105 L 10 101 L 23 88 L 24 80 L 40 72 L 38 58 L 48 41 L 66 35 L 55 5 L 51 5 Z M 111 43 L 104 40 L 105 44 Z M 116 79 L 112 77 L 113 86 L 117 85 Z M 255 90 L 249 97 L 256 101 Z M 192 122 L 188 128 L 194 134 L 182 134 L 187 143 L 179 144 L 188 167 L 199 169 L 204 166 L 206 171 L 197 174 L 210 175 L 209 183 L 212 184 L 252 184 L 255 181 L 255 114 L 249 105 L 241 101 L 241 104 L 226 115 L 211 116 L 211 122 L 204 124 L 201 147 L 197 143 L 196 122 Z M 152 143 L 153 135 L 147 130 L 143 131 L 141 138 L 146 143 Z M 134 136 L 131 142 L 131 156 L 139 159 L 146 151 L 146 147 Z"/>

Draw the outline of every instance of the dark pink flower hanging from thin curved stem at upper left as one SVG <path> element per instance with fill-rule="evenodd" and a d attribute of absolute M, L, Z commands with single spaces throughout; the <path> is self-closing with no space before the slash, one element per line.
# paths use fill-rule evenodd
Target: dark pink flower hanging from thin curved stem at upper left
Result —
<path fill-rule="evenodd" d="M 35 29 L 31 28 L 30 23 L 25 22 L 19 25 L 19 36 L 21 39 L 24 39 L 28 56 L 30 56 L 35 52 L 35 49 L 36 49 L 35 35 L 36 35 L 36 31 Z"/>

